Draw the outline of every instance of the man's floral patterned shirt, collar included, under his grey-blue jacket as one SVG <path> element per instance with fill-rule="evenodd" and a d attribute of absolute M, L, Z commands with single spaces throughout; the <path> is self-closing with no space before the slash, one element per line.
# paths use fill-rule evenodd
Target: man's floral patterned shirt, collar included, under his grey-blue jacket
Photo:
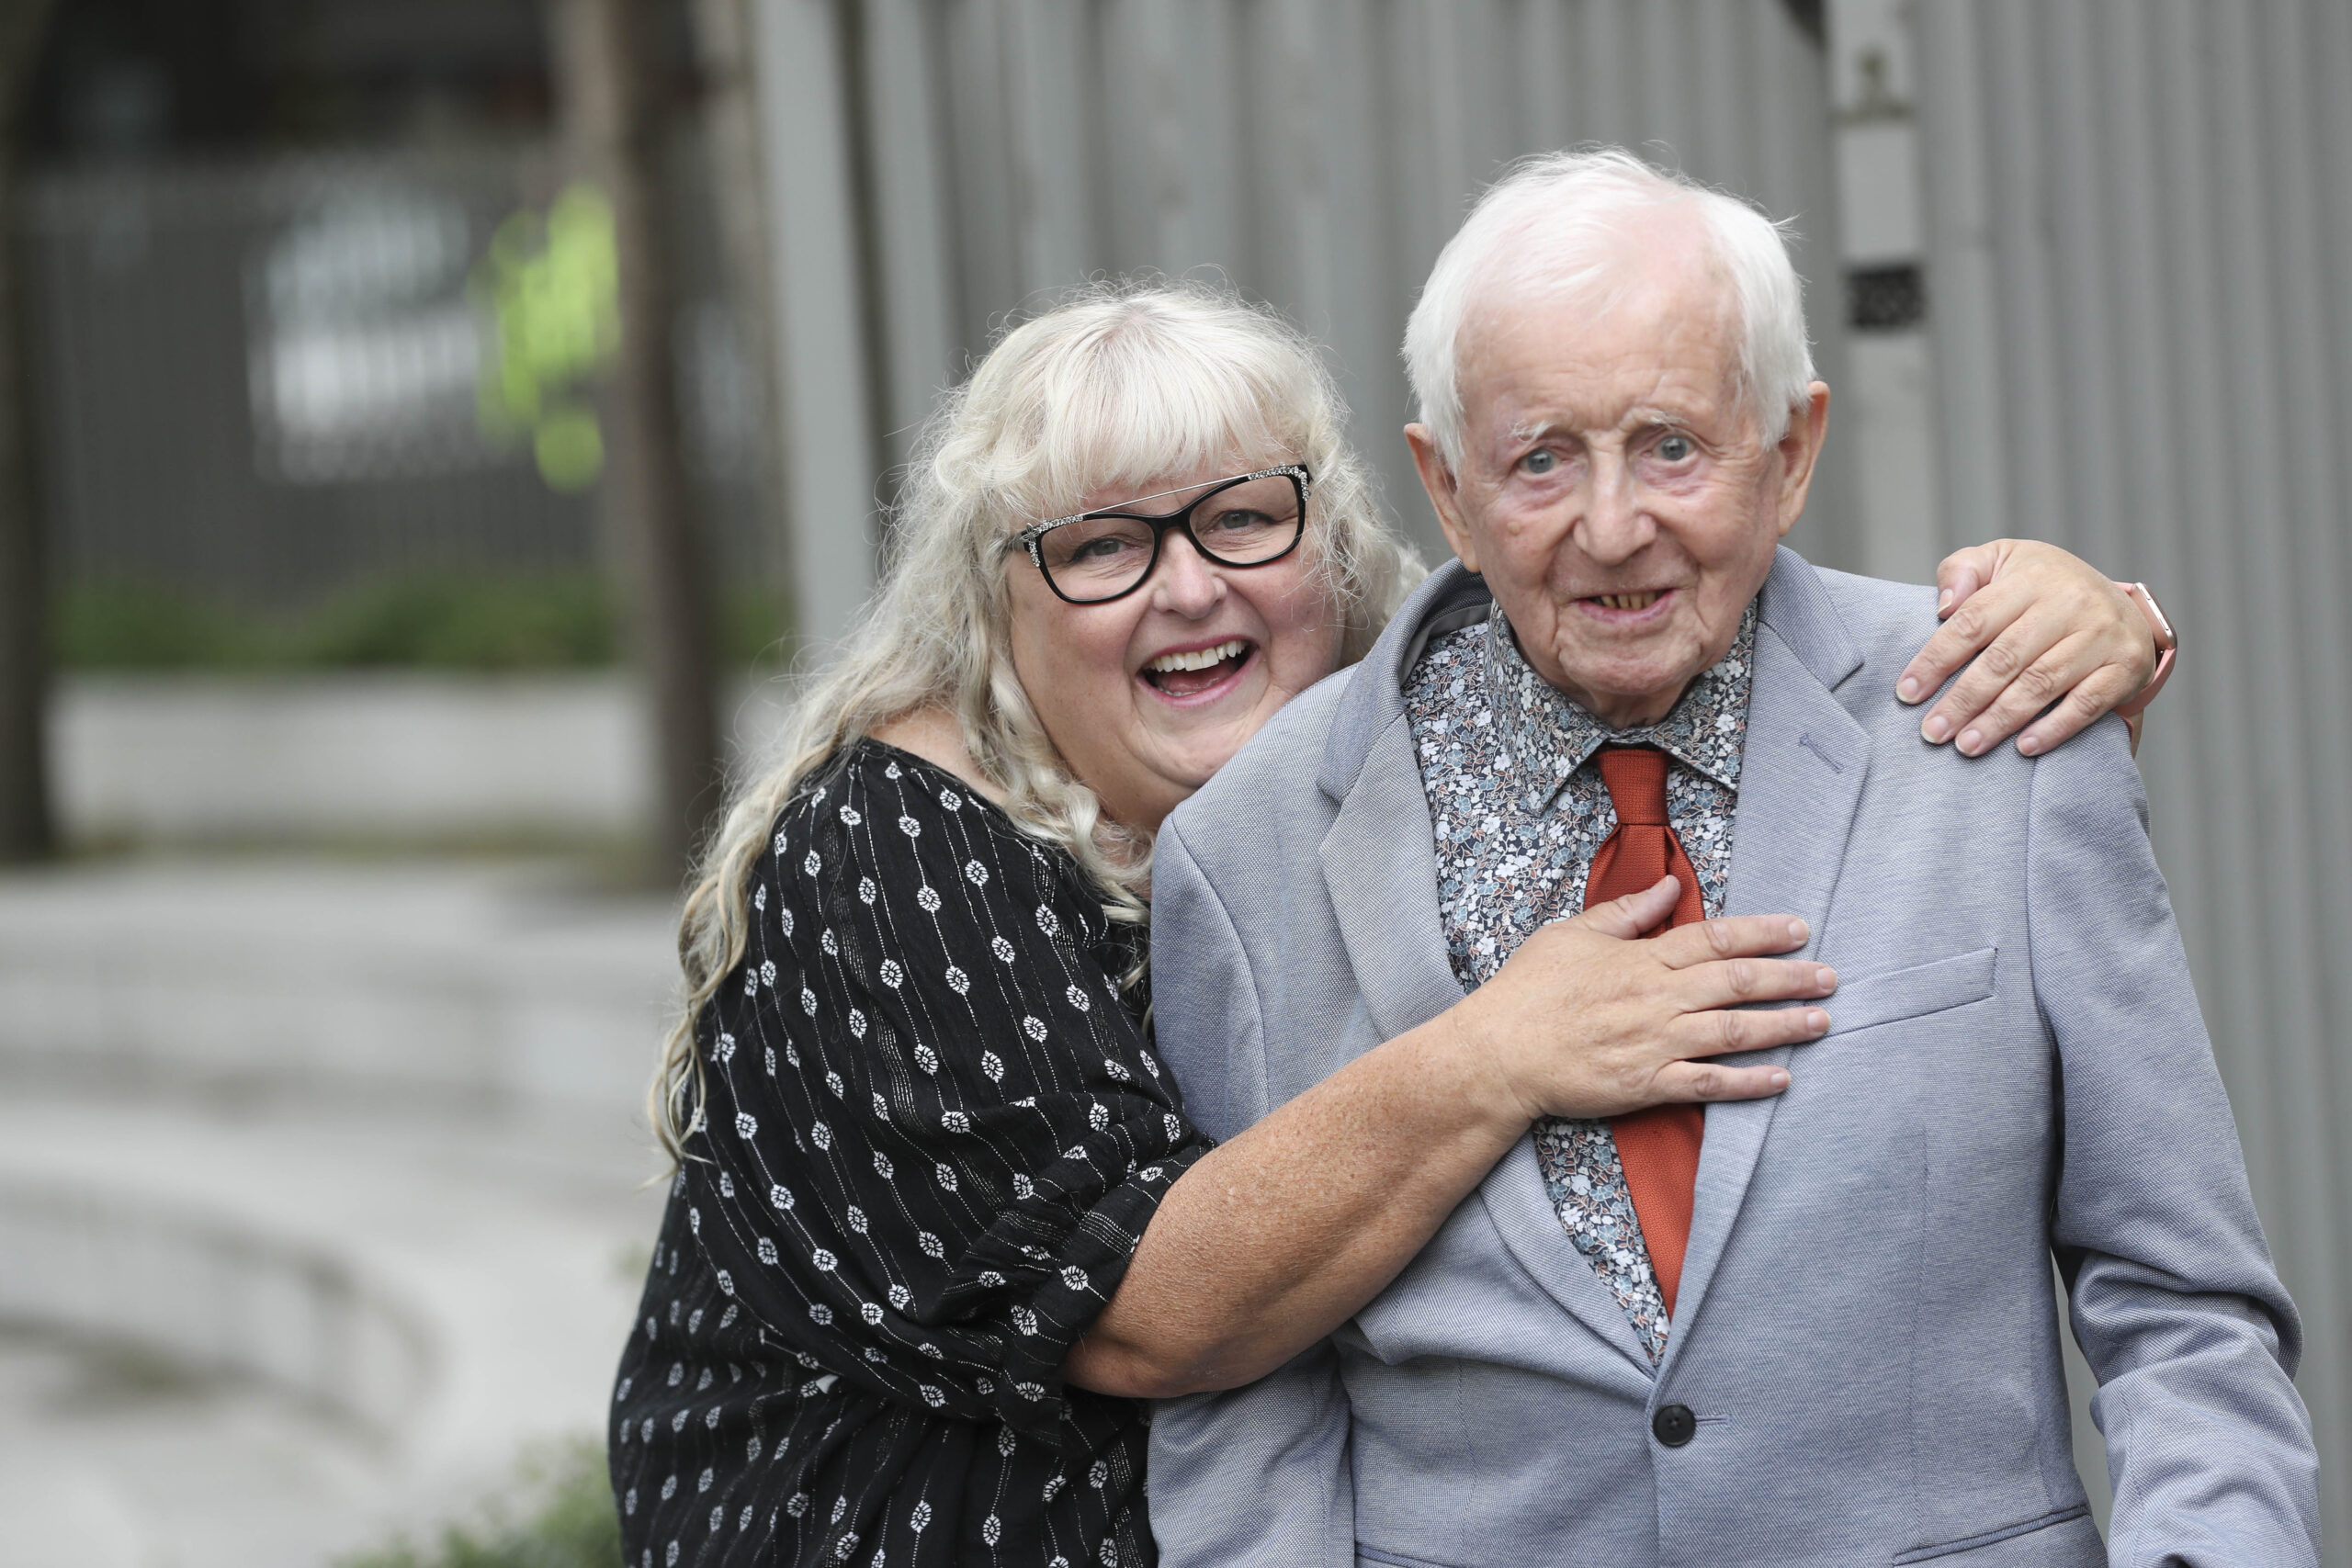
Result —
<path fill-rule="evenodd" d="M 1698 872 L 1698 898 L 1722 914 L 1731 877 L 1757 609 L 1731 651 L 1691 682 L 1658 724 L 1613 731 L 1550 686 L 1510 635 L 1503 609 L 1435 637 L 1404 682 L 1404 712 L 1437 835 L 1437 912 L 1463 990 L 1484 985 L 1536 926 L 1585 907 L 1592 856 L 1616 809 L 1592 755 L 1656 745 L 1668 764 L 1665 811 Z M 1665 1354 L 1665 1300 L 1606 1121 L 1536 1124 L 1552 1211 L 1616 1295 L 1649 1352 Z"/>

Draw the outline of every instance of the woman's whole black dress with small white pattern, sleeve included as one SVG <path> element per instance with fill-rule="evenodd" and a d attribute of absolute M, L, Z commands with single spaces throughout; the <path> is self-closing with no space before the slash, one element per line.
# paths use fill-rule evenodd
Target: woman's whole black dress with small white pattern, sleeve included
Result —
<path fill-rule="evenodd" d="M 1209 1147 L 1077 863 L 861 741 L 750 879 L 614 1394 L 630 1568 L 1155 1561 L 1143 1408 L 1063 1387 Z"/>

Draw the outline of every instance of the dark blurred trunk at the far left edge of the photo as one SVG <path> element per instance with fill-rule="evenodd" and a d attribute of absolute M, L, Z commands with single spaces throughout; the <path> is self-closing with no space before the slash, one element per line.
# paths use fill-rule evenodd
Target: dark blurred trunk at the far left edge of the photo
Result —
<path fill-rule="evenodd" d="M 49 616 L 42 515 L 33 484 L 31 388 L 19 343 L 16 183 L 24 101 L 49 0 L 0 5 L 0 863 L 56 851 L 49 811 Z"/>

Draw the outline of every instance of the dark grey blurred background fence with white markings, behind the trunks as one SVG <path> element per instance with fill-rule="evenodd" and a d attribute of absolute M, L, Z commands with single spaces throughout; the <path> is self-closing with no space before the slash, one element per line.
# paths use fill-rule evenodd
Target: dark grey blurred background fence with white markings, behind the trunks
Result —
<path fill-rule="evenodd" d="M 691 155 L 675 167 L 694 468 L 722 557 L 757 567 L 757 414 L 703 242 L 708 181 Z M 468 277 L 555 183 L 534 146 L 35 174 L 14 240 L 54 571 L 285 604 L 367 576 L 593 564 L 590 498 L 477 418 L 494 329 Z"/>

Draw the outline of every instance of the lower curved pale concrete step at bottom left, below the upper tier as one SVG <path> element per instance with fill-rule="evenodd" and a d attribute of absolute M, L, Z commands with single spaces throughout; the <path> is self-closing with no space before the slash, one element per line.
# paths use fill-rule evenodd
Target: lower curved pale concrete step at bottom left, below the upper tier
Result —
<path fill-rule="evenodd" d="M 9 1095 L 0 1319 L 174 1387 L 38 1396 L 0 1354 L 0 1563 L 320 1568 L 595 1436 L 654 1173 L 576 1121 Z"/>

